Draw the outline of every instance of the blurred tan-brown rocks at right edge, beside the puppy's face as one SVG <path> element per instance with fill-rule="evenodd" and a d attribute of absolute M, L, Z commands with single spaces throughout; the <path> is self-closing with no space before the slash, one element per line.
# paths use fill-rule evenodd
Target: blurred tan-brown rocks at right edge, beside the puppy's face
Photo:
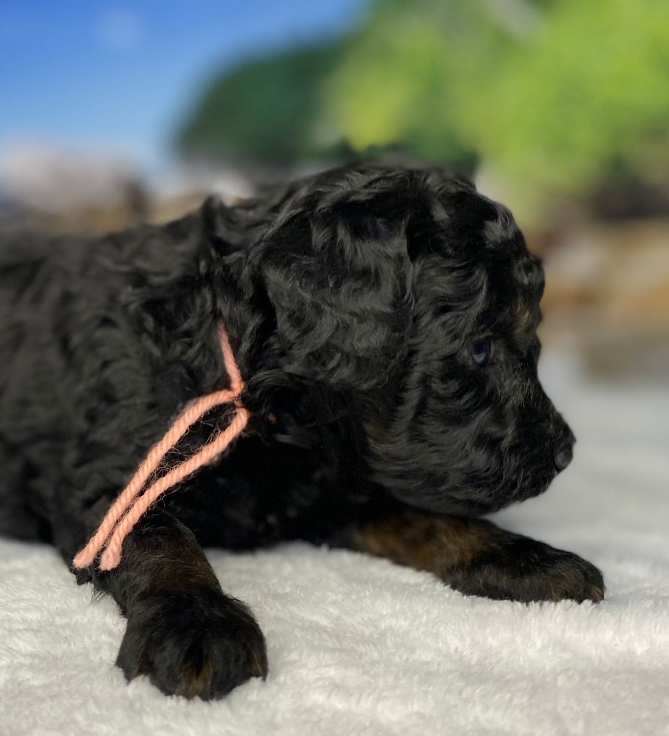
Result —
<path fill-rule="evenodd" d="M 669 219 L 581 222 L 545 256 L 545 341 L 601 375 L 669 382 Z"/>

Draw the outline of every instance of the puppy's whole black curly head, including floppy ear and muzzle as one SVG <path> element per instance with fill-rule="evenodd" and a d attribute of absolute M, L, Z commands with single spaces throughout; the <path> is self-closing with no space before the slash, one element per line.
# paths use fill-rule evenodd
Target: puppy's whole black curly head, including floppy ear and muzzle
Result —
<path fill-rule="evenodd" d="M 508 210 L 440 170 L 368 165 L 293 185 L 263 217 L 249 263 L 267 350 L 348 403 L 375 481 L 480 514 L 566 467 L 573 435 L 537 378 L 542 266 Z"/>

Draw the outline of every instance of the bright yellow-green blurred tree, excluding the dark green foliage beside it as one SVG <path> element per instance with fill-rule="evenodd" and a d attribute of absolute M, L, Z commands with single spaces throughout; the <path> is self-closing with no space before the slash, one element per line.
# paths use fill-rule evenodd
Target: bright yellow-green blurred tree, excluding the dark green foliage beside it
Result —
<path fill-rule="evenodd" d="M 356 148 L 474 152 L 525 204 L 666 179 L 665 0 L 376 0 L 328 79 Z"/>

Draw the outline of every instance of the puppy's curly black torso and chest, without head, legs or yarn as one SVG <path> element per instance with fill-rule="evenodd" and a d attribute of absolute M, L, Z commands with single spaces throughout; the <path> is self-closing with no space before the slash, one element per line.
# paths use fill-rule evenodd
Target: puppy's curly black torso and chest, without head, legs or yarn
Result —
<path fill-rule="evenodd" d="M 250 378 L 251 428 L 161 506 L 203 544 L 233 549 L 321 542 L 355 520 L 370 495 L 361 427 L 319 419 L 328 397 L 277 367 L 261 336 L 271 318 L 249 308 L 241 283 L 221 283 L 230 272 L 217 266 L 236 254 L 221 258 L 208 238 L 198 215 L 102 241 L 4 242 L 1 533 L 52 541 L 69 563 L 174 415 L 226 384 L 219 318 Z M 209 414 L 180 454 L 226 419 Z"/>

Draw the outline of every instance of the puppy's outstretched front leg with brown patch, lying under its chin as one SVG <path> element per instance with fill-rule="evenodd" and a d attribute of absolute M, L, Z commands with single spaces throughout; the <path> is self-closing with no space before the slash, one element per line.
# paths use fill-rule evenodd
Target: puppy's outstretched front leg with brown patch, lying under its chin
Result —
<path fill-rule="evenodd" d="M 481 519 L 407 512 L 352 529 L 346 546 L 428 570 L 465 595 L 598 602 L 604 594 L 590 562 Z"/>

